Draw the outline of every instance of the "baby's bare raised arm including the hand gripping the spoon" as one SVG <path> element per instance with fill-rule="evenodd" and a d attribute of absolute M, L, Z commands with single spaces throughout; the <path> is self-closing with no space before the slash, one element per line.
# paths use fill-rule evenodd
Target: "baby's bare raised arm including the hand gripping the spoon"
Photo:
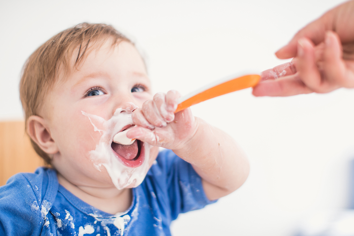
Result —
<path fill-rule="evenodd" d="M 185 109 L 176 114 L 178 92 L 157 93 L 133 112 L 138 126 L 127 133 L 154 146 L 172 149 L 192 164 L 210 200 L 238 189 L 249 173 L 249 163 L 235 141 Z"/>

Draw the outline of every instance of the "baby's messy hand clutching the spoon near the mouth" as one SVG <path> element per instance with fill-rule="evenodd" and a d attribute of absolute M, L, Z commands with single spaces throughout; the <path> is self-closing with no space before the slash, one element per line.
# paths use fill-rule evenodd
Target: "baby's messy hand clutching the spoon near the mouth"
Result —
<path fill-rule="evenodd" d="M 177 91 L 171 90 L 156 93 L 152 100 L 144 102 L 141 109 L 133 111 L 132 120 L 137 126 L 127 137 L 172 150 L 183 148 L 198 125 L 190 108 L 174 114 L 179 97 Z"/>

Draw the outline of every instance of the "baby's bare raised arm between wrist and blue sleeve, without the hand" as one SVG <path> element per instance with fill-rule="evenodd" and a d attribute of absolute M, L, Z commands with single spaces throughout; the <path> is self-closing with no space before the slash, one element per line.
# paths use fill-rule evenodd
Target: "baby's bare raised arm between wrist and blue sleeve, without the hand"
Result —
<path fill-rule="evenodd" d="M 202 178 L 210 200 L 238 189 L 249 173 L 249 163 L 236 142 L 223 131 L 196 117 L 196 131 L 183 148 L 173 150 L 191 163 Z"/>

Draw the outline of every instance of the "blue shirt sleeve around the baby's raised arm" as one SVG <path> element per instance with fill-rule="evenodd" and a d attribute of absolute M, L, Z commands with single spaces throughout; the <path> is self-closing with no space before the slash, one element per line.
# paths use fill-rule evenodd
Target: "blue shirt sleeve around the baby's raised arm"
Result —
<path fill-rule="evenodd" d="M 201 209 L 216 202 L 210 201 L 204 192 L 201 178 L 192 165 L 171 150 L 165 150 L 159 157 L 164 162 L 167 177 L 167 193 L 171 206 L 172 220 L 179 213 Z"/>

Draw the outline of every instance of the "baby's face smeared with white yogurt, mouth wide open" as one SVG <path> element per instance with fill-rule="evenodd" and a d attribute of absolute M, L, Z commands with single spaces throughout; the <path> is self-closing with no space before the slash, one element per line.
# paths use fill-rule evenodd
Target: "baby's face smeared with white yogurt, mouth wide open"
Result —
<path fill-rule="evenodd" d="M 136 48 L 125 41 L 110 45 L 107 41 L 93 50 L 68 79 L 55 84 L 46 120 L 58 146 L 52 163 L 60 174 L 75 185 L 122 189 L 141 183 L 158 148 L 138 140 L 112 145 L 115 134 L 133 125 L 132 111 L 152 92 Z"/>

